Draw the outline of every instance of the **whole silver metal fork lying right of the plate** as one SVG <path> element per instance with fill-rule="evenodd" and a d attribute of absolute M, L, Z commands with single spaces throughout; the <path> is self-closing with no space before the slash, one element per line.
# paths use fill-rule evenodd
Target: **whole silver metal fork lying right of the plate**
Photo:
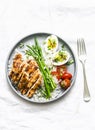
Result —
<path fill-rule="evenodd" d="M 83 76 L 84 76 L 84 92 L 83 92 L 83 99 L 84 101 L 88 102 L 90 101 L 90 92 L 88 89 L 87 79 L 86 79 L 86 73 L 85 73 L 85 61 L 86 61 L 86 47 L 84 39 L 78 39 L 77 40 L 77 52 L 79 56 L 79 60 L 82 63 L 83 67 Z"/>

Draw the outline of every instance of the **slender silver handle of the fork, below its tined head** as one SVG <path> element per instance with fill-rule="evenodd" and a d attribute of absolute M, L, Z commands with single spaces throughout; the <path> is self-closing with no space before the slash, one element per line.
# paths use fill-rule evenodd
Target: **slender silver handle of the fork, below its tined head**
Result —
<path fill-rule="evenodd" d="M 87 79 L 86 79 L 86 72 L 85 72 L 85 63 L 82 63 L 83 66 L 83 76 L 84 76 L 84 93 L 83 93 L 83 99 L 84 101 L 88 102 L 90 101 L 90 92 L 88 89 Z"/>

